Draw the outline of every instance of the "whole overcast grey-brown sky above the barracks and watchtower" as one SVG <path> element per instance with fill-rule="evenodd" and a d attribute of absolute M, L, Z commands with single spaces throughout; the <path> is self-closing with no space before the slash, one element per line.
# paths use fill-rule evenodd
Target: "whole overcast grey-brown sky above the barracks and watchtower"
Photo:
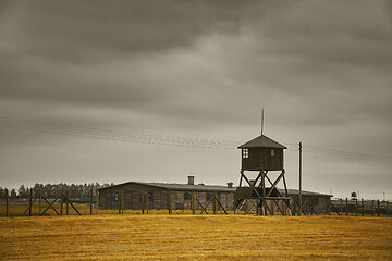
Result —
<path fill-rule="evenodd" d="M 4 119 L 241 145 L 259 135 L 261 108 L 265 134 L 290 148 L 289 187 L 302 141 L 305 189 L 392 199 L 391 1 L 0 0 L 2 187 L 237 184 L 235 148 L 83 138 Z"/>

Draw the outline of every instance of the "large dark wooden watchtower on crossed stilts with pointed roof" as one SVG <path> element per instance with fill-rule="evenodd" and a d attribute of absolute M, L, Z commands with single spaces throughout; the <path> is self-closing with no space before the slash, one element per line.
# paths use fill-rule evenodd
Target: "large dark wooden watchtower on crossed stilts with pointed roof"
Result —
<path fill-rule="evenodd" d="M 235 192 L 236 213 L 247 200 L 257 202 L 256 212 L 261 215 L 267 215 L 267 200 L 273 201 L 279 209 L 278 202 L 282 200 L 290 210 L 290 199 L 283 164 L 283 150 L 286 149 L 286 147 L 261 134 L 240 146 L 238 149 L 241 149 L 242 164 L 240 186 Z M 252 173 L 257 172 L 258 174 L 256 178 L 250 179 L 245 175 L 245 171 Z M 274 182 L 269 177 L 271 172 L 280 172 Z M 246 182 L 245 186 L 243 186 L 244 181 Z M 284 196 L 278 189 L 280 181 L 283 181 L 284 184 Z M 266 182 L 269 183 L 268 186 L 266 185 Z M 281 210 L 281 212 L 283 211 Z"/>

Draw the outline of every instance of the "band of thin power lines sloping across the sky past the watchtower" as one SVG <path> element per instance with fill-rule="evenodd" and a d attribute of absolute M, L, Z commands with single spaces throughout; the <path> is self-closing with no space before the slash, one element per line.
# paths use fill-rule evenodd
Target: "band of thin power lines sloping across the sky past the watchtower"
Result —
<path fill-rule="evenodd" d="M 16 128 L 24 130 L 33 130 L 40 133 L 49 133 L 54 135 L 76 136 L 82 138 L 106 139 L 125 142 L 150 144 L 171 147 L 188 147 L 188 148 L 205 148 L 205 149 L 236 149 L 238 141 L 217 140 L 217 139 L 196 139 L 183 138 L 163 135 L 151 135 L 140 133 L 126 133 L 118 130 L 105 130 L 90 127 L 83 127 L 71 124 L 59 124 L 38 122 L 29 120 L 21 120 L 14 117 L 0 117 L 0 126 L 8 128 Z M 297 151 L 297 144 L 287 144 L 287 151 Z M 352 160 L 371 161 L 378 163 L 391 163 L 392 158 L 381 157 L 375 154 L 360 153 L 355 151 L 345 151 L 338 149 L 328 149 L 316 147 L 313 145 L 303 145 L 304 152 L 339 157 Z"/>

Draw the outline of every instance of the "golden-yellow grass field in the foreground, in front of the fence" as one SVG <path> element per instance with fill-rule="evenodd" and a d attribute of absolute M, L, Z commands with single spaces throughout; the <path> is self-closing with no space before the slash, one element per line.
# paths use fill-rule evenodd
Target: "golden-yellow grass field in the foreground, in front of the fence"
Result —
<path fill-rule="evenodd" d="M 93 215 L 0 219 L 1 260 L 392 260 L 392 219 Z"/>

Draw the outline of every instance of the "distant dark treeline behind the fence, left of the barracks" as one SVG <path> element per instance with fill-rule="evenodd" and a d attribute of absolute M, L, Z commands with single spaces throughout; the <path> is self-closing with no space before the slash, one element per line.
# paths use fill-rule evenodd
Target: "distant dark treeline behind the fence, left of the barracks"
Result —
<path fill-rule="evenodd" d="M 25 187 L 24 185 L 21 185 L 17 190 L 14 188 L 7 189 L 0 187 L 0 197 L 5 198 L 5 194 L 8 191 L 9 198 L 28 198 L 30 195 L 30 189 L 33 189 L 33 197 L 38 198 L 39 194 L 45 196 L 46 198 L 59 198 L 61 196 L 61 192 L 68 194 L 69 198 L 77 198 L 77 199 L 87 199 L 89 198 L 91 189 L 95 191 L 97 188 L 101 187 L 108 187 L 114 185 L 105 183 L 103 185 L 100 185 L 99 183 L 90 183 L 90 184 L 39 184 L 36 183 L 33 188 Z"/>

